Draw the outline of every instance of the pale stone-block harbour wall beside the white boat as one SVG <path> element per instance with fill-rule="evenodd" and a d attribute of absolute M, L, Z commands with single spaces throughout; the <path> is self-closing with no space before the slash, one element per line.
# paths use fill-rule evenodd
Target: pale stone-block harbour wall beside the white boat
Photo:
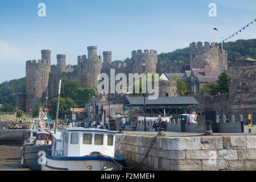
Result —
<path fill-rule="evenodd" d="M 127 167 L 142 161 L 154 139 L 137 135 L 116 137 L 115 156 L 124 154 Z M 256 170 L 256 135 L 157 137 L 144 163 L 134 170 Z"/>

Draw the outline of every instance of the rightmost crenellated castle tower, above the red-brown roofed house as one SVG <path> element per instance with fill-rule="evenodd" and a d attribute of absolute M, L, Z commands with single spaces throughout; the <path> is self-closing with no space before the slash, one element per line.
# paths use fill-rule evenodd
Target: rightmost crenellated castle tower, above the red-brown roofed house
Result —
<path fill-rule="evenodd" d="M 209 42 L 204 42 L 203 46 L 202 42 L 197 42 L 197 44 L 193 42 L 189 44 L 189 57 L 190 69 L 204 68 L 208 65 L 210 68 L 228 70 L 227 51 L 219 49 L 217 43 L 212 43 L 210 46 Z"/>

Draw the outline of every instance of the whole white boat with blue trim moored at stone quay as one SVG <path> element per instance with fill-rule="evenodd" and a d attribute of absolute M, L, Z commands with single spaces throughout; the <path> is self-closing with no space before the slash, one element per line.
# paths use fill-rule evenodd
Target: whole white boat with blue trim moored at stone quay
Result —
<path fill-rule="evenodd" d="M 52 135 L 42 171 L 120 171 L 125 159 L 115 158 L 114 148 L 112 131 L 65 127 Z"/>

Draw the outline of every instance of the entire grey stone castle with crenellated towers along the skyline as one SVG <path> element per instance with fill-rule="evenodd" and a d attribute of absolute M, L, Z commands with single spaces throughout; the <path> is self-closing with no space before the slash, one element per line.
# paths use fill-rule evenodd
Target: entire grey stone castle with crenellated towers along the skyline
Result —
<path fill-rule="evenodd" d="M 216 46 L 212 43 L 211 47 Z M 26 101 L 26 111 L 34 109 L 36 104 L 43 101 L 46 97 L 53 98 L 57 93 L 59 87 L 59 80 L 67 78 L 69 80 L 77 80 L 80 82 L 82 88 L 97 88 L 97 76 L 100 73 L 110 75 L 110 69 L 115 69 L 115 75 L 118 73 L 142 73 L 143 61 L 145 61 L 145 70 L 150 73 L 184 73 L 186 70 L 192 68 L 204 68 L 205 65 L 212 68 L 227 69 L 227 53 L 214 47 L 211 52 L 204 53 L 201 59 L 194 59 L 195 55 L 209 49 L 209 43 L 205 42 L 204 47 L 201 42 L 191 43 L 189 45 L 190 61 L 182 64 L 175 69 L 169 67 L 175 63 L 169 61 L 161 61 L 158 63 L 157 51 L 147 49 L 142 52 L 131 52 L 131 67 L 127 67 L 125 63 L 112 63 L 112 52 L 105 51 L 102 56 L 97 55 L 97 46 L 89 46 L 88 55 L 77 57 L 77 65 L 66 65 L 65 55 L 57 55 L 57 65 L 51 65 L 51 51 L 42 50 L 41 60 L 26 61 L 26 98 L 20 98 Z M 160 68 L 167 68 L 164 71 L 159 71 Z M 160 83 L 159 96 L 177 96 L 177 84 L 174 80 L 164 81 Z M 22 104 L 19 104 L 22 105 Z"/>

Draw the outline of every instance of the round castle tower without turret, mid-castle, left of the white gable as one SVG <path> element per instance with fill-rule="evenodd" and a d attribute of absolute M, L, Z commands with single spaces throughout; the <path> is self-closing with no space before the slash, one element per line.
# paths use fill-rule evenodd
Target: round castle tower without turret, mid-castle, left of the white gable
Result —
<path fill-rule="evenodd" d="M 143 60 L 145 60 L 145 71 L 147 73 L 155 73 L 158 53 L 154 50 L 149 52 L 147 49 L 142 52 L 139 49 L 138 51 L 131 52 L 131 60 L 133 61 L 133 73 L 143 73 Z"/>

